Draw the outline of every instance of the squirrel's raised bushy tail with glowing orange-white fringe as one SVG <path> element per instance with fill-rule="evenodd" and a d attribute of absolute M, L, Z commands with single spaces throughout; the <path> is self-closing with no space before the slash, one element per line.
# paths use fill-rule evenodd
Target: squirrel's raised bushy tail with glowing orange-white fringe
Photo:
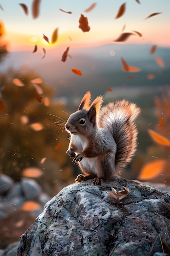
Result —
<path fill-rule="evenodd" d="M 98 126 L 110 131 L 117 144 L 115 167 L 117 173 L 132 159 L 137 146 L 135 119 L 140 109 L 128 101 L 117 101 L 104 106 L 98 116 Z"/>

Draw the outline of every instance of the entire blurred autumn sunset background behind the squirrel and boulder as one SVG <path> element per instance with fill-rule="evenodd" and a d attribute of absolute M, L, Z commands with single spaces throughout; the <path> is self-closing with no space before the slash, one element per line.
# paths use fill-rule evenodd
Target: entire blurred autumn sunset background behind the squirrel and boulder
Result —
<path fill-rule="evenodd" d="M 169 17 L 167 0 L 0 2 L 0 249 L 80 173 L 64 123 L 88 90 L 141 108 L 122 176 L 170 186 Z"/>

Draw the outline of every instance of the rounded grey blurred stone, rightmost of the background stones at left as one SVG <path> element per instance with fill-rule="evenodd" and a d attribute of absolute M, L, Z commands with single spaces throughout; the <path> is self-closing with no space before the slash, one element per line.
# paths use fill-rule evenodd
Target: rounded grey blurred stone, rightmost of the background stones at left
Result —
<path fill-rule="evenodd" d="M 34 180 L 29 178 L 21 179 L 21 189 L 24 194 L 25 200 L 37 200 L 42 193 L 40 185 Z"/>

